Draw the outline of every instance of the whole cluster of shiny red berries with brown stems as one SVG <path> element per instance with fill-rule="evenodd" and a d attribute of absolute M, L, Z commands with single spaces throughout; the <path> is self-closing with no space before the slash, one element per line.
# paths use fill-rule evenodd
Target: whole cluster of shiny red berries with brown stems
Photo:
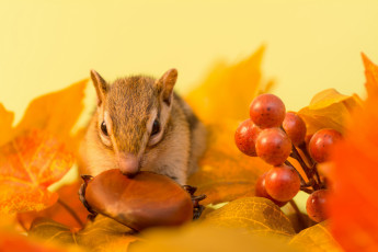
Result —
<path fill-rule="evenodd" d="M 250 117 L 234 135 L 237 147 L 251 157 L 260 157 L 273 168 L 256 182 L 256 196 L 265 197 L 282 207 L 301 190 L 310 194 L 307 213 L 314 221 L 327 219 L 325 177 L 317 164 L 329 160 L 330 148 L 342 138 L 331 128 L 306 135 L 306 124 L 295 112 L 286 112 L 283 101 L 273 94 L 261 94 L 250 106 Z M 287 159 L 298 161 L 302 173 Z M 303 176 L 301 175 L 303 174 Z M 306 175 L 306 176 L 305 176 Z"/>

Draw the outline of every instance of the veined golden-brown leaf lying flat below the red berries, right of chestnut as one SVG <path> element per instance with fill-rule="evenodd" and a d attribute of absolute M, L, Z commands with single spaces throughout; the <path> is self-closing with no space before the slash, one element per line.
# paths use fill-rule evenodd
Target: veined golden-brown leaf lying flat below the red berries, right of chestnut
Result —
<path fill-rule="evenodd" d="M 225 228 L 243 228 L 251 234 L 290 238 L 290 220 L 273 202 L 263 197 L 243 197 L 208 214 L 204 220 Z"/>

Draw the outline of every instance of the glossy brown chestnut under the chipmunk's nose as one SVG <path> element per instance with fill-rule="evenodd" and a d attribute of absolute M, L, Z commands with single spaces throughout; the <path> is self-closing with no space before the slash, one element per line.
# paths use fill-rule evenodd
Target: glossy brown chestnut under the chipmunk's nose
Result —
<path fill-rule="evenodd" d="M 88 183 L 85 201 L 94 211 L 138 231 L 193 219 L 191 195 L 173 180 L 151 172 L 129 179 L 118 169 L 107 170 Z"/>

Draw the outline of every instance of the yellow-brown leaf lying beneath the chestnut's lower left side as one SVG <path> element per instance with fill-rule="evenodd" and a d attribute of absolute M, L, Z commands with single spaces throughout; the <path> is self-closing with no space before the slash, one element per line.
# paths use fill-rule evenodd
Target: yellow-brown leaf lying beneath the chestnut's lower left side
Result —
<path fill-rule="evenodd" d="M 56 243 L 77 244 L 96 252 L 126 252 L 128 245 L 138 239 L 128 227 L 101 215 L 79 231 L 50 219 L 37 219 L 28 234 Z"/>

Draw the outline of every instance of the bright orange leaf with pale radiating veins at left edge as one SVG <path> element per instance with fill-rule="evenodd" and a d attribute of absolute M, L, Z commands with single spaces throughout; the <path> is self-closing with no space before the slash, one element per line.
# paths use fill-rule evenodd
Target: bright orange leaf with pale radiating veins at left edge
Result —
<path fill-rule="evenodd" d="M 57 201 L 46 188 L 71 168 L 73 157 L 53 136 L 33 130 L 0 148 L 0 213 L 42 210 Z"/>

